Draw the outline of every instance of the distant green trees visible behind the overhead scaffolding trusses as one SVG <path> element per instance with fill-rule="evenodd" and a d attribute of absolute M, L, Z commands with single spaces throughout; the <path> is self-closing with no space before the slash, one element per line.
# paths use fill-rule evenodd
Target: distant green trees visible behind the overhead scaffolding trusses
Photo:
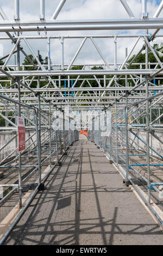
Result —
<path fill-rule="evenodd" d="M 157 50 L 157 51 L 160 51 L 161 50 L 161 48 L 162 48 L 162 46 L 161 45 L 159 45 L 159 44 L 154 44 L 153 45 L 153 48 L 155 49 L 155 50 Z M 158 56 L 158 54 L 157 54 L 157 56 Z M 29 56 L 28 56 L 31 60 L 32 60 L 32 62 L 34 63 L 34 64 L 37 64 L 37 61 L 36 61 L 36 59 L 33 57 L 33 55 L 32 54 L 29 54 Z M 129 63 L 131 62 L 131 60 L 133 60 L 134 59 L 134 57 L 135 57 L 135 55 L 133 55 L 129 60 L 128 60 L 128 65 L 129 65 Z M 140 53 L 139 54 L 139 56 L 134 60 L 134 63 L 145 63 L 145 57 L 146 57 L 146 54 L 145 53 Z M 159 59 L 161 60 L 161 62 L 163 63 L 163 57 L 160 57 L 160 56 L 158 56 L 159 57 Z M 40 56 L 39 56 L 39 59 L 40 59 L 40 63 L 41 64 L 44 64 L 44 65 L 47 65 L 48 64 L 48 57 L 45 57 L 45 59 L 43 59 L 42 58 L 42 56 L 41 56 L 41 54 L 40 54 Z M 155 59 L 155 57 L 154 57 L 154 55 L 153 55 L 153 53 L 151 52 L 151 51 L 148 51 L 148 61 L 150 62 L 150 63 L 156 63 L 157 61 L 156 61 L 156 59 Z M 52 62 L 51 62 L 52 63 Z M 4 64 L 4 62 L 3 61 L 0 61 L 0 65 L 3 65 Z M 28 58 L 24 58 L 24 60 L 23 60 L 23 63 L 22 63 L 23 65 L 32 65 L 30 62 L 29 62 L 29 60 L 28 60 Z M 152 65 L 151 64 L 151 69 L 152 68 L 154 68 L 154 66 L 155 65 Z M 139 69 L 140 68 L 140 66 L 139 65 L 131 65 L 131 66 L 129 66 L 128 67 L 128 69 Z M 143 69 L 145 69 L 145 65 L 142 65 L 142 68 Z M 158 67 L 157 67 L 157 69 L 159 69 L 160 68 L 160 65 L 158 65 Z M 47 69 L 47 67 L 46 67 L 46 69 Z M 52 68 L 51 68 L 52 69 Z M 71 68 L 71 70 L 82 70 L 83 69 L 83 66 L 82 65 L 76 65 L 76 66 L 72 66 L 72 68 Z M 102 70 L 103 69 L 103 67 L 102 66 L 93 66 L 92 67 L 92 70 Z M 7 70 L 7 68 L 5 68 L 5 70 Z M 10 70 L 13 70 L 13 69 L 10 69 Z M 33 66 L 31 66 L 31 67 L 26 67 L 25 68 L 25 70 L 35 70 L 35 68 L 33 67 Z M 77 79 L 77 75 L 72 75 L 72 76 L 70 76 L 70 84 L 71 84 L 71 80 L 73 80 L 73 83 L 74 83 L 74 80 L 76 80 Z M 108 78 L 112 78 L 113 76 L 112 75 L 106 75 L 106 79 L 108 79 Z M 162 77 L 162 76 L 160 76 L 159 75 L 159 77 Z M 22 78 L 22 77 L 21 77 Z M 32 78 L 32 77 L 29 77 L 29 78 Z M 92 76 L 92 75 L 87 75 L 87 76 L 82 76 L 82 75 L 80 75 L 80 79 L 84 79 L 85 80 L 85 82 L 83 83 L 83 87 L 97 87 L 98 86 L 98 84 L 97 84 L 97 81 L 95 80 L 95 77 L 94 76 Z M 96 76 L 96 78 L 97 78 L 97 80 L 98 79 L 102 79 L 101 80 L 101 86 L 104 86 L 104 80 L 103 80 L 103 75 L 97 75 Z M 122 76 L 122 78 L 125 78 L 125 76 Z M 10 82 L 5 82 L 5 80 L 7 80 L 8 78 L 3 78 L 3 79 L 1 79 L 1 80 L 4 80 L 4 82 L 1 82 L 1 84 L 2 84 L 2 86 L 10 86 Z M 52 79 L 53 80 L 58 80 L 58 76 L 52 76 Z M 65 82 L 64 82 L 64 80 L 65 79 L 67 79 L 67 76 L 61 76 L 61 87 L 62 88 L 64 88 L 65 87 Z M 89 81 L 89 83 L 90 83 L 90 85 L 89 85 L 89 83 L 86 81 L 87 79 L 90 79 L 90 80 L 88 80 Z M 93 79 L 93 80 L 91 80 L 91 79 Z M 34 78 L 34 80 L 37 80 L 37 77 L 35 77 Z M 123 79 L 123 80 L 119 80 L 118 81 L 118 83 L 121 85 L 121 86 L 126 86 L 126 84 L 125 84 L 125 79 Z M 130 80 L 130 83 L 131 83 L 131 86 L 134 86 L 134 82 L 132 81 L 132 80 Z M 43 87 L 43 86 L 45 86 L 47 84 L 47 82 L 46 81 L 40 81 L 40 87 Z M 57 86 L 59 86 L 59 81 L 56 81 L 56 84 L 57 84 Z M 76 87 L 80 87 L 81 86 L 81 84 L 82 84 L 82 81 L 77 81 L 76 82 Z M 156 85 L 158 85 L 158 80 L 155 80 L 155 84 Z M 67 81 L 66 81 L 66 85 L 67 85 Z M 32 84 L 30 85 L 30 87 L 31 88 L 36 88 L 37 87 L 37 82 L 36 81 L 33 81 L 32 82 Z M 79 92 L 80 93 L 80 92 Z M 86 94 L 86 95 L 89 95 L 88 94 L 88 92 L 83 92 L 84 94 Z M 106 93 L 106 95 L 107 94 L 109 94 L 109 93 Z M 57 95 L 59 95 L 59 93 L 58 94 L 56 94 L 56 96 Z M 162 111 L 162 110 L 161 110 Z M 162 112 L 161 112 L 162 113 Z M 156 113 L 156 111 L 155 111 L 155 109 L 154 109 L 154 111 L 152 111 L 152 119 L 153 118 L 155 118 L 155 116 L 158 116 L 158 113 Z M 14 120 L 13 120 L 14 121 Z M 144 118 L 144 121 L 145 121 L 145 118 Z M 142 122 L 142 118 L 140 118 L 140 122 Z M 161 120 L 161 122 L 163 122 L 163 118 L 162 118 L 162 120 Z M 4 126 L 5 125 L 5 120 L 3 119 L 3 118 L 1 118 L 0 117 L 0 125 L 1 126 Z"/>

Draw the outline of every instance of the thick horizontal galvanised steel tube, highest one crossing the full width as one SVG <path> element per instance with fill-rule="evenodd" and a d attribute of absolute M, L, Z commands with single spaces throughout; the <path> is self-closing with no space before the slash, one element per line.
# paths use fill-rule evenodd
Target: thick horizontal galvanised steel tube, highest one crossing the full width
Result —
<path fill-rule="evenodd" d="M 32 31 L 89 31 L 89 30 L 127 30 L 127 29 L 162 29 L 162 19 L 129 19 L 103 21 L 60 21 L 60 22 L 0 22 L 0 32 L 32 32 Z M 38 28 L 39 27 L 39 28 Z"/>

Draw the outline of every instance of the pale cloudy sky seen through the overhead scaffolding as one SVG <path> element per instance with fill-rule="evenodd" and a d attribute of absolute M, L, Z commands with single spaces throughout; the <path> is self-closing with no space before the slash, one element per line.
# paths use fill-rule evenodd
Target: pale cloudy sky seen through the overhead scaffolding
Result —
<path fill-rule="evenodd" d="M 57 8 L 60 0 L 45 0 L 46 2 L 46 19 L 50 20 Z M 147 10 L 149 17 L 153 17 L 158 5 L 161 1 L 148 0 Z M 21 20 L 39 20 L 40 0 L 20 0 L 20 19 Z M 141 0 L 127 0 L 129 7 L 133 11 L 135 17 L 141 17 Z M 14 0 L 0 0 L 0 6 L 8 16 L 9 20 L 13 20 L 14 17 Z M 81 19 L 125 19 L 128 18 L 128 14 L 121 4 L 120 0 L 67 0 L 62 8 L 57 20 L 81 20 Z M 159 17 L 163 17 L 163 10 Z M 1 18 L 0 18 L 1 19 Z M 149 33 L 153 31 L 150 30 Z M 113 35 L 113 34 L 144 34 L 145 31 L 61 31 L 61 32 L 47 32 L 47 35 Z M 162 29 L 159 32 L 162 34 Z M 5 35 L 1 33 L 0 36 Z M 38 35 L 37 32 L 23 33 L 23 35 Z M 45 35 L 41 32 L 41 35 Z M 65 39 L 64 41 L 64 58 L 65 64 L 71 62 L 74 54 L 78 50 L 83 39 Z M 114 42 L 112 39 L 95 39 L 96 44 L 103 53 L 104 58 L 108 63 L 114 62 Z M 160 44 L 163 40 L 161 38 L 156 39 L 154 43 Z M 117 39 L 117 62 L 123 62 L 125 57 L 126 48 L 128 51 L 133 46 L 135 39 Z M 35 53 L 40 50 L 43 58 L 47 56 L 47 41 L 46 40 L 29 40 L 30 46 L 32 46 Z M 137 44 L 134 53 L 140 50 L 143 40 L 141 39 Z M 26 44 L 21 41 L 21 45 L 27 54 L 30 54 Z M 1 41 L 0 54 L 3 49 L 3 54 L 8 54 L 13 45 L 9 40 Z M 21 56 L 21 61 L 24 57 Z M 61 62 L 61 44 L 59 39 L 51 40 L 51 59 L 53 64 L 59 64 Z M 14 63 L 14 58 L 10 60 L 10 64 Z M 79 56 L 74 64 L 102 64 L 103 60 L 96 51 L 90 39 L 87 39 Z"/>

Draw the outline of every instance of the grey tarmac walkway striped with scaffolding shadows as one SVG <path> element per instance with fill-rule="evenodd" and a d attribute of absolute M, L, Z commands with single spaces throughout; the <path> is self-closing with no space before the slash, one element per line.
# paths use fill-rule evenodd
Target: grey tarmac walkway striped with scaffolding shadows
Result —
<path fill-rule="evenodd" d="M 163 245 L 163 231 L 102 151 L 80 139 L 4 245 Z"/>

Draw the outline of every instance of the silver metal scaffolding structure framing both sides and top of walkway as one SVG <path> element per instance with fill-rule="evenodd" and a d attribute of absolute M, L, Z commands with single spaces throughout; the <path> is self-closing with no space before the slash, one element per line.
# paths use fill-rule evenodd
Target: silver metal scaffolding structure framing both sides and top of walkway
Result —
<path fill-rule="evenodd" d="M 68 1 L 68 0 L 67 0 Z M 0 32 L 7 36 L 0 36 L 3 40 L 12 42 L 12 50 L 1 58 L 5 60 L 0 66 L 0 116 L 5 125 L 0 127 L 0 187 L 3 187 L 0 207 L 8 205 L 11 210 L 11 196 L 17 192 L 19 208 L 23 211 L 32 200 L 37 190 L 43 187 L 43 181 L 49 173 L 60 163 L 61 157 L 66 155 L 70 145 L 78 140 L 79 131 L 88 129 L 89 139 L 101 148 L 110 161 L 124 176 L 124 184 L 133 185 L 137 193 L 147 204 L 160 225 L 163 218 L 153 209 L 153 202 L 158 204 L 162 211 L 163 200 L 163 64 L 160 61 L 161 52 L 156 51 L 151 43 L 162 37 L 158 32 L 163 28 L 163 20 L 159 14 L 163 8 L 161 1 L 158 10 L 152 18 L 148 17 L 147 1 L 142 1 L 142 16 L 136 18 L 125 0 L 120 0 L 126 9 L 129 19 L 115 20 L 57 20 L 57 17 L 66 0 L 61 0 L 52 19 L 45 18 L 45 1 L 40 0 L 40 19 L 24 21 L 20 19 L 20 1 L 15 0 L 14 20 L 9 21 L 7 15 L 0 8 Z M 39 2 L 39 1 L 38 1 Z M 112 35 L 47 35 L 52 31 L 103 31 L 124 29 L 146 29 L 145 34 L 112 34 Z M 155 29 L 149 33 L 149 29 Z M 36 32 L 36 35 L 23 35 L 23 32 Z M 41 35 L 40 32 L 45 33 Z M 11 35 L 14 33 L 14 35 Z M 135 42 L 130 51 L 126 50 L 123 63 L 117 63 L 118 39 L 134 38 Z M 76 54 L 70 63 L 65 63 L 65 40 L 81 39 Z M 108 63 L 99 49 L 98 40 L 109 39 L 114 47 L 114 63 Z M 41 64 L 39 52 L 35 53 L 30 42 L 43 40 L 47 44 L 47 64 Z M 60 64 L 51 63 L 51 42 L 60 41 Z M 89 40 L 95 47 L 102 60 L 98 66 L 101 69 L 92 69 L 95 64 L 83 64 L 82 69 L 73 69 L 76 66 L 80 51 Z M 23 50 L 22 42 L 36 63 Z M 142 47 L 129 63 L 135 47 L 142 42 Z M 135 59 L 145 51 L 145 63 L 135 63 Z M 148 52 L 155 57 L 155 63 L 148 60 Z M 17 56 L 17 63 L 11 65 L 9 61 L 13 54 Z M 20 54 L 28 59 L 29 65 L 20 63 Z M 133 69 L 132 66 L 139 68 Z M 31 69 L 29 69 L 31 68 Z M 72 78 L 74 76 L 76 78 Z M 87 78 L 86 76 L 93 76 Z M 102 76 L 102 78 L 98 78 Z M 54 78 L 55 77 L 55 78 Z M 62 78 L 64 77 L 64 78 Z M 5 80 L 4 80 L 5 78 Z M 97 86 L 92 87 L 90 81 Z M 125 81 L 121 86 L 120 81 Z M 156 83 L 155 83 L 156 81 Z M 45 82 L 45 86 L 40 86 Z M 37 86 L 33 88 L 33 83 Z M 80 83 L 80 87 L 77 87 Z M 85 86 L 86 84 L 86 86 Z M 65 116 L 68 107 L 70 115 Z M 62 129 L 53 129 L 57 124 L 54 112 L 62 115 Z M 76 113 L 80 119 L 76 122 Z M 81 115 L 90 111 L 90 122 L 83 121 Z M 73 113 L 74 112 L 74 113 Z M 101 115 L 103 115 L 101 122 Z M 16 117 L 23 117 L 26 124 L 26 149 L 18 151 L 18 133 L 15 123 Z M 71 121 L 75 120 L 75 129 L 71 129 Z M 68 129 L 65 129 L 65 122 Z M 105 127 L 105 131 L 101 128 Z M 31 160 L 31 165 L 27 160 Z M 48 172 L 43 171 L 49 166 Z M 22 193 L 26 191 L 23 184 L 33 185 L 35 190 L 29 202 L 22 205 Z M 137 185 L 138 184 L 138 185 Z M 139 189 L 141 187 L 141 190 Z M 9 212 L 0 215 L 1 222 Z M 16 220 L 17 221 L 17 220 Z M 11 225 L 10 230 L 14 227 Z M 8 231 L 0 224 L 1 243 L 8 236 Z M 7 233 L 5 233 L 7 232 Z M 5 234 L 5 235 L 4 235 Z"/>

